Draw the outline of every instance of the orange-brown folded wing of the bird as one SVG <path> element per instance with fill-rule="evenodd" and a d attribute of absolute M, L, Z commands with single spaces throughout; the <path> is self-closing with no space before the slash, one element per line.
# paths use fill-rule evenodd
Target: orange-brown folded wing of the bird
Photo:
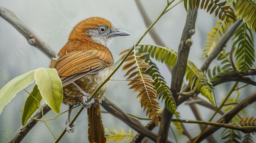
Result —
<path fill-rule="evenodd" d="M 88 74 L 98 73 L 106 66 L 113 64 L 110 52 L 96 49 L 73 51 L 56 60 L 52 68 L 56 68 L 63 87 Z"/>

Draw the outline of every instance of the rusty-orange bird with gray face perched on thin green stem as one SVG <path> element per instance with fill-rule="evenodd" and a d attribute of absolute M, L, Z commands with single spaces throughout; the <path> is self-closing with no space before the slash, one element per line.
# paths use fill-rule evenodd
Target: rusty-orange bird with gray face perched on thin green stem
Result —
<path fill-rule="evenodd" d="M 91 17 L 79 22 L 71 31 L 67 43 L 52 59 L 50 68 L 56 68 L 63 86 L 63 103 L 69 106 L 67 132 L 74 132 L 70 125 L 73 106 L 88 108 L 88 141 L 106 143 L 100 114 L 100 102 L 110 85 L 107 81 L 91 101 L 87 101 L 94 90 L 114 70 L 113 55 L 109 45 L 117 36 L 131 35 L 116 29 L 104 18 Z"/>

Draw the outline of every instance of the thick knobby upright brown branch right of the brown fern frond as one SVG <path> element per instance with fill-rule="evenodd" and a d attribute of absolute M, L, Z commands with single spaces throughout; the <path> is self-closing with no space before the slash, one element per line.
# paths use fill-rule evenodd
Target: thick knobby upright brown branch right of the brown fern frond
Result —
<path fill-rule="evenodd" d="M 195 21 L 197 17 L 197 9 L 189 9 L 182 37 L 180 40 L 180 45 L 178 48 L 177 62 L 173 67 L 172 80 L 171 80 L 171 92 L 173 93 L 173 98 L 176 103 L 178 101 L 182 81 L 186 69 L 186 63 L 189 56 L 189 50 L 193 44 L 191 37 L 195 33 Z M 173 114 L 164 108 L 162 113 L 162 119 L 160 122 L 160 128 L 158 131 L 157 143 L 166 143 L 168 139 L 169 126 L 172 120 Z"/>

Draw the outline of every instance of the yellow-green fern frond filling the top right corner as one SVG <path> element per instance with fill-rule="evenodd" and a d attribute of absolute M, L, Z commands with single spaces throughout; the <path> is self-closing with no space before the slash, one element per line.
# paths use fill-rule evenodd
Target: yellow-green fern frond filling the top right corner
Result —
<path fill-rule="evenodd" d="M 234 9 L 237 18 L 241 18 L 254 32 L 256 29 L 256 3 L 252 0 L 237 0 Z"/>

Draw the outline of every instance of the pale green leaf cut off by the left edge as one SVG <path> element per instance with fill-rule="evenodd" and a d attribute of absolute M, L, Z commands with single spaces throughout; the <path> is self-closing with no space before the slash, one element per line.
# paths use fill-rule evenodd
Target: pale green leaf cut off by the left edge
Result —
<path fill-rule="evenodd" d="M 4 106 L 6 106 L 20 90 L 34 82 L 34 73 L 35 70 L 31 70 L 23 75 L 15 77 L 0 90 L 0 114 L 2 113 Z"/>

